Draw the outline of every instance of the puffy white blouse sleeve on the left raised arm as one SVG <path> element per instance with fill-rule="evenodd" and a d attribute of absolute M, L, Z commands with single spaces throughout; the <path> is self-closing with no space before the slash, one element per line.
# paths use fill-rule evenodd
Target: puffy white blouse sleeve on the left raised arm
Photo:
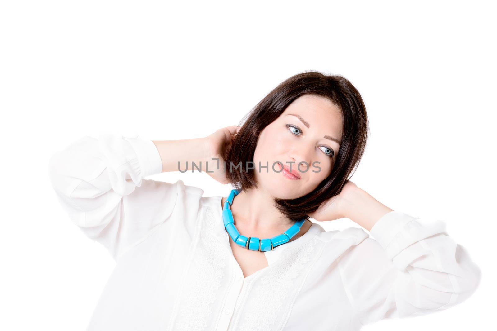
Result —
<path fill-rule="evenodd" d="M 184 184 L 144 179 L 160 172 L 157 147 L 137 135 L 85 136 L 49 161 L 50 180 L 63 209 L 114 260 L 171 215 Z"/>

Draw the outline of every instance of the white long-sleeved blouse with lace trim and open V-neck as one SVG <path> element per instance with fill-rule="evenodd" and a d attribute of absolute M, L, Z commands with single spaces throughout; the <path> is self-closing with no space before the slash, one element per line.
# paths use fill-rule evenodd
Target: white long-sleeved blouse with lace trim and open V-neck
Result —
<path fill-rule="evenodd" d="M 138 135 L 85 136 L 50 159 L 71 221 L 116 261 L 87 330 L 360 330 L 453 307 L 479 286 L 480 268 L 443 221 L 400 211 L 374 224 L 374 239 L 314 222 L 244 278 L 222 197 L 145 179 L 161 171 Z"/>

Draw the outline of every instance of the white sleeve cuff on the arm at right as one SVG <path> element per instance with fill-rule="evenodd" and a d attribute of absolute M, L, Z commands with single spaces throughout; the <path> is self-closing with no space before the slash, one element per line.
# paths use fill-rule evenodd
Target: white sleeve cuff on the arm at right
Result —
<path fill-rule="evenodd" d="M 417 218 L 414 216 L 394 210 L 383 215 L 376 221 L 369 231 L 369 234 L 387 250 L 397 233 L 399 233 L 407 223 L 416 219 Z"/>

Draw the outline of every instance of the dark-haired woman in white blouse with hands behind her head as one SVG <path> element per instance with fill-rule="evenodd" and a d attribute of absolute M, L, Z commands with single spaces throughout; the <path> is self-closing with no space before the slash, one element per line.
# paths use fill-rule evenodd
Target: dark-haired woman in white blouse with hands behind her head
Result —
<path fill-rule="evenodd" d="M 117 262 L 88 330 L 360 330 L 474 293 L 481 271 L 444 222 L 348 180 L 368 121 L 347 79 L 292 76 L 243 122 L 176 141 L 83 137 L 52 157 L 62 205 Z M 193 168 L 235 189 L 145 179 Z"/>

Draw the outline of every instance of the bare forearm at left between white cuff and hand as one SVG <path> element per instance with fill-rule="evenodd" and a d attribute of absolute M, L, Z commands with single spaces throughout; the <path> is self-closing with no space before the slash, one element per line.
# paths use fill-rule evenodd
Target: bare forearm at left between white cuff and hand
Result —
<path fill-rule="evenodd" d="M 152 142 L 161 155 L 162 172 L 179 171 L 180 169 L 184 172 L 185 170 L 197 169 L 197 167 L 201 171 L 206 171 L 207 161 L 209 161 L 209 171 L 211 171 L 211 165 L 215 165 L 215 161 L 210 159 L 205 138 L 153 140 Z M 196 167 L 192 166 L 193 163 Z"/>

